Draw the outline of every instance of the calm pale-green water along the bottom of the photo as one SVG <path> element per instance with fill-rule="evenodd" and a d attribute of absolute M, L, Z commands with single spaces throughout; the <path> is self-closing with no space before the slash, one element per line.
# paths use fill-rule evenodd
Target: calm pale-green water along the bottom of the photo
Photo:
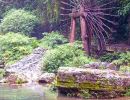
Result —
<path fill-rule="evenodd" d="M 51 92 L 46 85 L 0 85 L 0 100 L 83 100 L 57 95 Z M 130 100 L 130 97 L 112 100 Z"/>

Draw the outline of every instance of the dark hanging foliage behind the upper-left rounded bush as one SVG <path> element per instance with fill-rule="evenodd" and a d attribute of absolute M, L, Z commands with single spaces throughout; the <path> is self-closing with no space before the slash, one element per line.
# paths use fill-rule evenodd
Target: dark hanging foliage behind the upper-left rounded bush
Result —
<path fill-rule="evenodd" d="M 34 12 L 40 18 L 41 23 L 53 23 L 58 21 L 59 0 L 8 0 L 7 2 L 8 3 L 0 2 L 0 17 L 9 9 L 24 8 Z"/>

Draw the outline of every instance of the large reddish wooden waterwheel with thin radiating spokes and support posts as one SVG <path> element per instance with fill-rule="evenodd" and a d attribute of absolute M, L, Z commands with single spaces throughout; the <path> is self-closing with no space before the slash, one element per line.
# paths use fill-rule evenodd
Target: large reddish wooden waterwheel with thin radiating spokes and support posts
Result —
<path fill-rule="evenodd" d="M 116 0 L 61 0 L 60 19 L 63 30 L 69 32 L 70 43 L 76 38 L 76 25 L 80 26 L 83 48 L 88 55 L 94 44 L 102 53 L 106 39 L 117 25 Z"/>

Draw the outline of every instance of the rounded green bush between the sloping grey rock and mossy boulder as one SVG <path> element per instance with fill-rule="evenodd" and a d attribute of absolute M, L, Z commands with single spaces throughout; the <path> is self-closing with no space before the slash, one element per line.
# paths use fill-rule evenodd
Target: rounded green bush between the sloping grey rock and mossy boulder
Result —
<path fill-rule="evenodd" d="M 85 56 L 77 46 L 64 44 L 55 49 L 48 50 L 43 58 L 43 69 L 48 72 L 57 72 L 59 67 L 81 66 L 91 62 L 92 59 Z"/>

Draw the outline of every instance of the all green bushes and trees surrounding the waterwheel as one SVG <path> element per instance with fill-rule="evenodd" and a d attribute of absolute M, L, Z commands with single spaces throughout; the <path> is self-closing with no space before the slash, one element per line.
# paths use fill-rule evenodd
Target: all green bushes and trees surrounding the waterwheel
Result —
<path fill-rule="evenodd" d="M 100 60 L 114 63 L 123 72 L 130 72 L 130 51 L 106 53 L 97 59 L 85 54 L 78 36 L 79 41 L 74 45 L 68 43 L 68 37 L 62 35 L 57 27 L 60 20 L 59 0 L 3 1 L 8 3 L 0 0 L 0 60 L 4 60 L 6 65 L 14 64 L 40 46 L 48 49 L 42 60 L 43 71 L 56 73 L 59 67 L 79 67 Z M 128 44 L 130 0 L 118 0 L 117 5 L 119 25 L 111 37 L 114 38 L 112 43 Z M 33 34 L 42 39 L 32 37 Z M 4 70 L 0 69 L 0 79 L 4 74 Z M 126 95 L 130 95 L 130 89 Z"/>

